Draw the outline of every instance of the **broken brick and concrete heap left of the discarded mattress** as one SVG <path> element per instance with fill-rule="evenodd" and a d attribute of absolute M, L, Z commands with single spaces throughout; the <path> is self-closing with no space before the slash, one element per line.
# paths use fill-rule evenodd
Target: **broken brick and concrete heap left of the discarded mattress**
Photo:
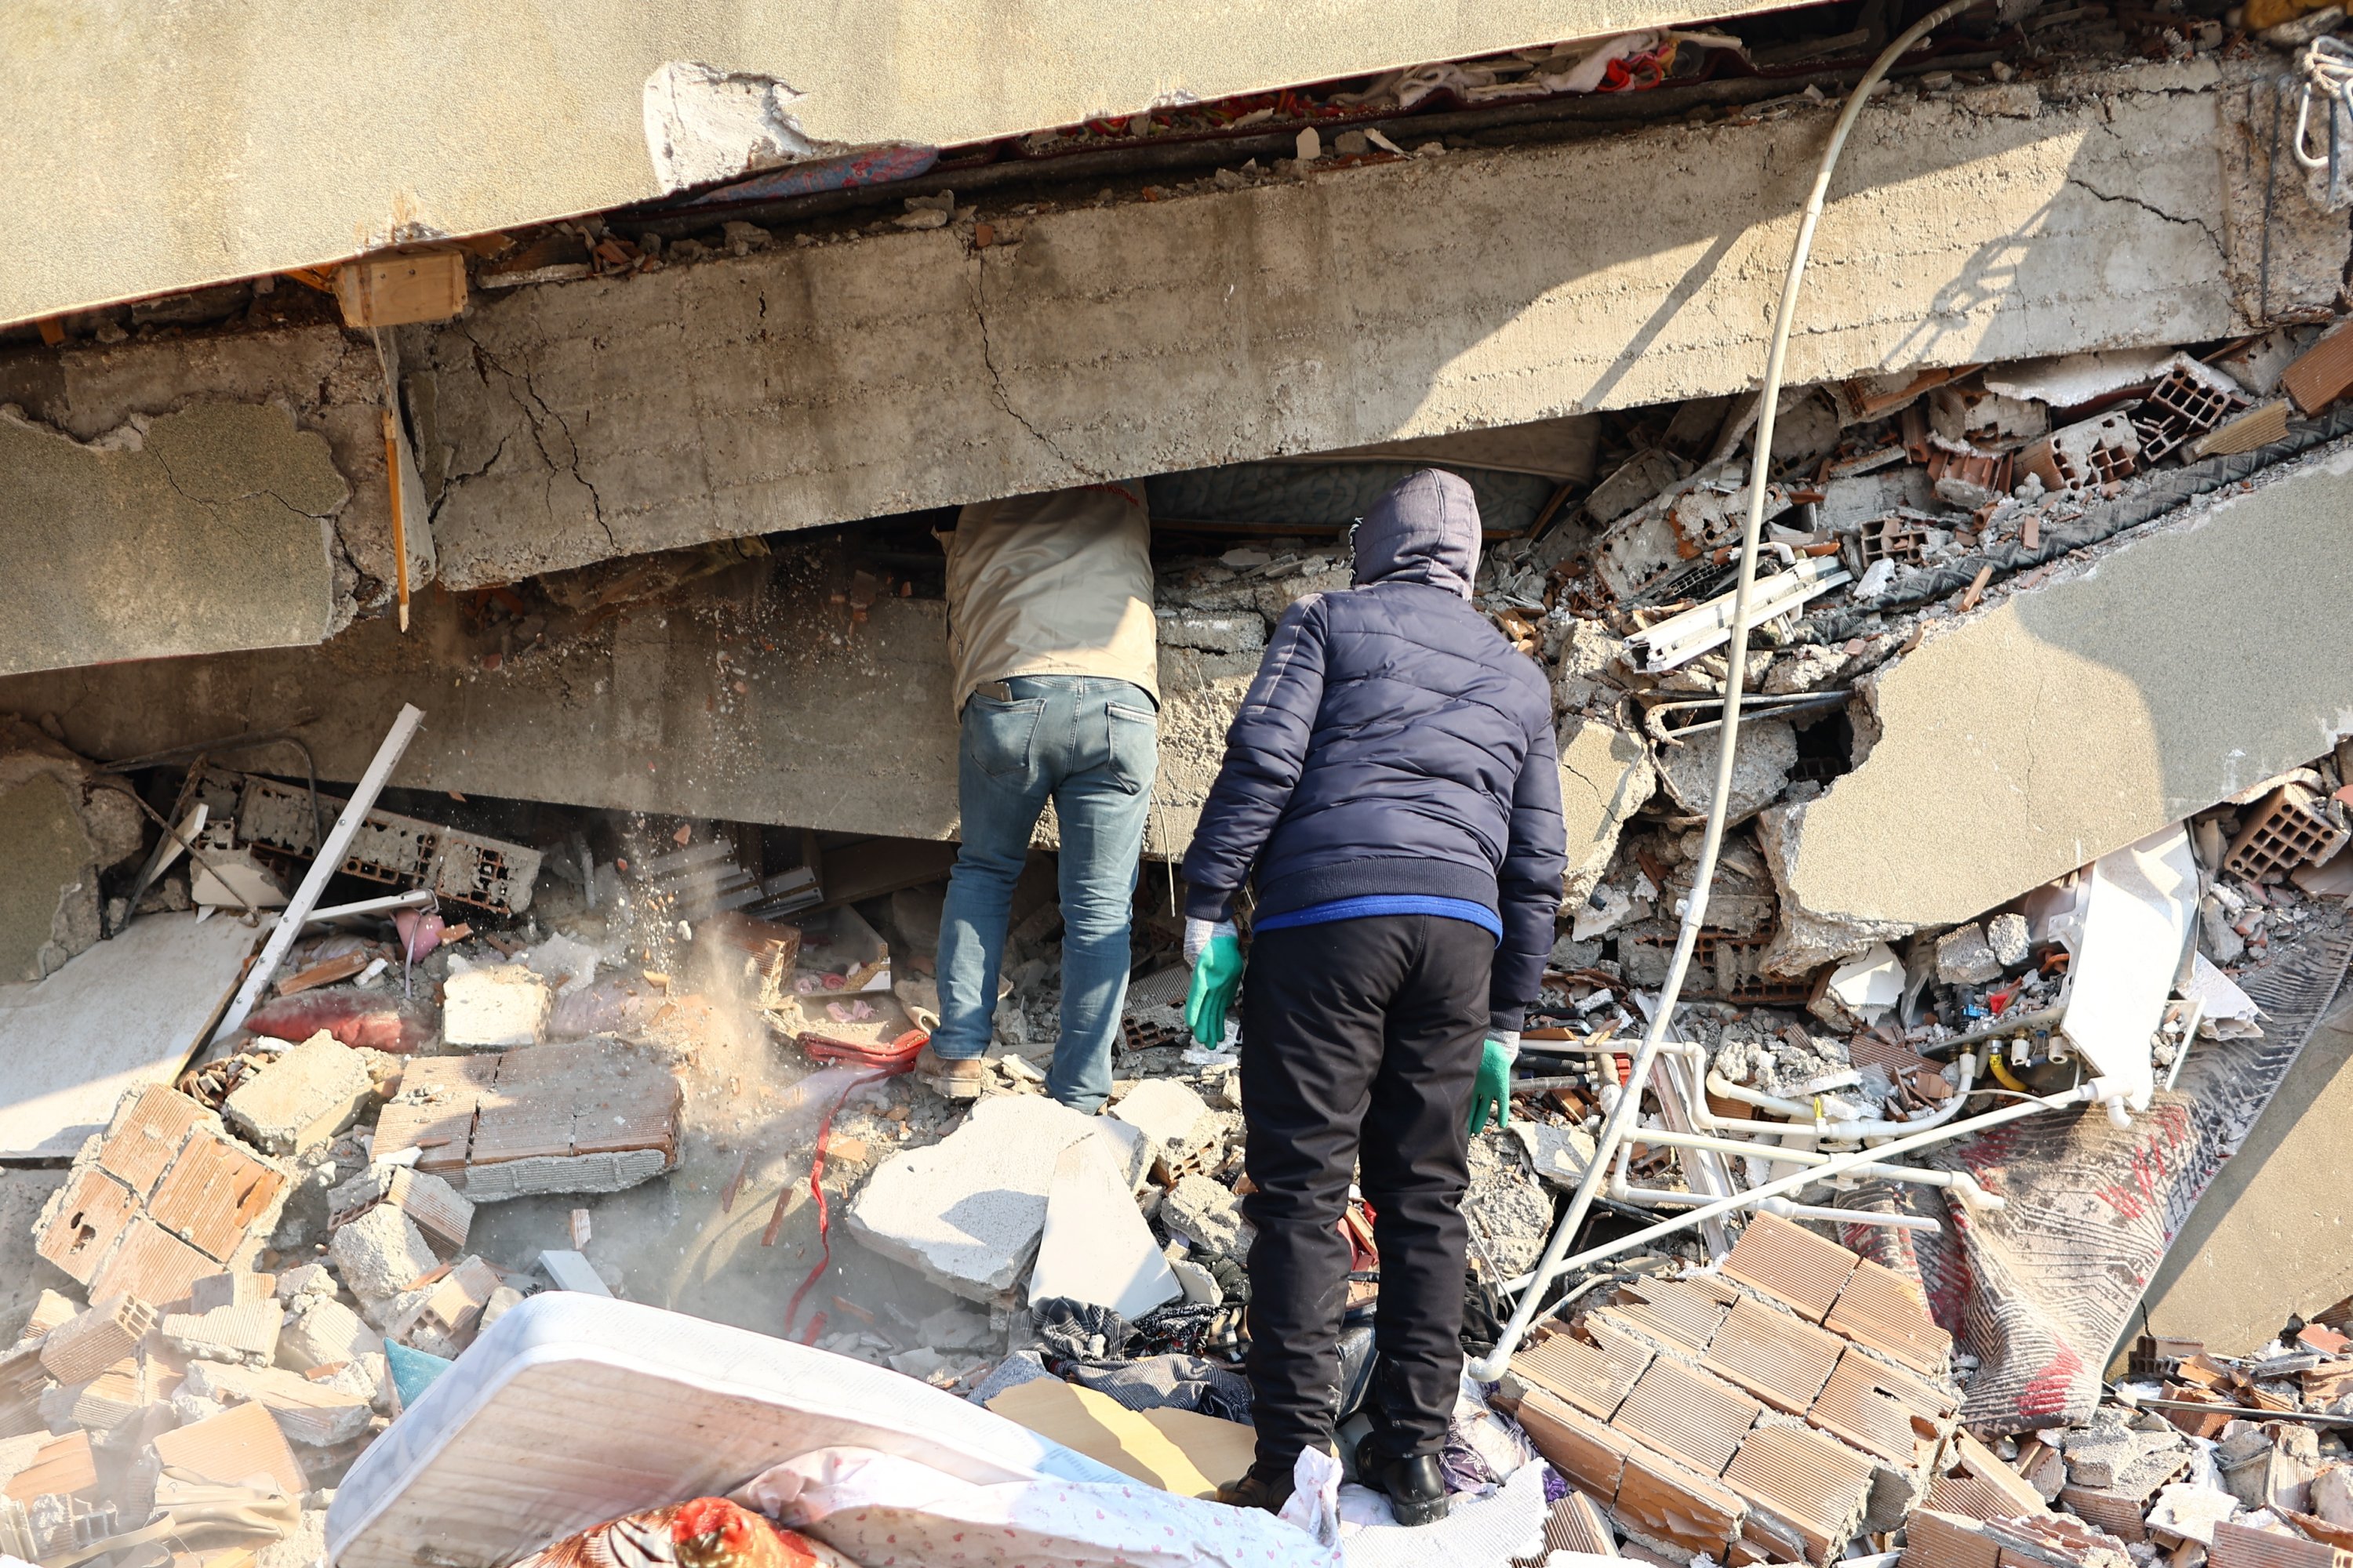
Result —
<path fill-rule="evenodd" d="M 339 940 L 299 950 L 280 1001 L 325 994 L 355 1037 L 391 1013 L 419 1053 L 233 1034 L 179 1088 L 129 1091 L 42 1208 L 73 1293 L 42 1291 L 0 1354 L 0 1556 L 75 1561 L 169 1516 L 207 1563 L 306 1568 L 336 1479 L 478 1333 L 546 1284 L 605 1291 L 576 1251 L 515 1274 L 468 1232 L 485 1201 L 668 1171 L 668 1063 L 551 1041 L 529 954 L 440 954 L 421 1001 L 304 985 Z"/>

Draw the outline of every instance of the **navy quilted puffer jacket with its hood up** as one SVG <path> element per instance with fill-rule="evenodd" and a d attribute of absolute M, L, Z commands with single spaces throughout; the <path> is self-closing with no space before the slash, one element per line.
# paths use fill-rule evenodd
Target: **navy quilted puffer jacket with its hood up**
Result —
<path fill-rule="evenodd" d="M 1471 607 L 1478 505 L 1435 468 L 1355 531 L 1355 585 L 1299 599 L 1226 731 L 1184 858 L 1186 912 L 1224 919 L 1426 893 L 1494 910 L 1492 1027 L 1518 1030 L 1553 950 L 1567 837 L 1544 670 Z"/>

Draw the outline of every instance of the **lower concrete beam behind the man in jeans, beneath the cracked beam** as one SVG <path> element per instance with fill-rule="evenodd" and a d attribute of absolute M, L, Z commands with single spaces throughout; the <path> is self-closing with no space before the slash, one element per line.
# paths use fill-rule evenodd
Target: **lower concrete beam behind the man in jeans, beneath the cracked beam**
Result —
<path fill-rule="evenodd" d="M 687 607 L 628 607 L 560 646 L 496 654 L 426 595 L 409 637 L 362 621 L 320 649 L 132 661 L 0 679 L 0 712 L 56 715 L 85 757 L 296 729 L 322 780 L 358 778 L 400 703 L 426 712 L 395 785 L 576 806 L 955 835 L 946 607 L 852 623 L 828 578 L 746 567 Z M 1151 853 L 1191 842 L 1257 654 L 1160 649 Z M 216 757 L 285 769 L 285 752 Z M 1047 825 L 1052 835 L 1052 823 Z"/>

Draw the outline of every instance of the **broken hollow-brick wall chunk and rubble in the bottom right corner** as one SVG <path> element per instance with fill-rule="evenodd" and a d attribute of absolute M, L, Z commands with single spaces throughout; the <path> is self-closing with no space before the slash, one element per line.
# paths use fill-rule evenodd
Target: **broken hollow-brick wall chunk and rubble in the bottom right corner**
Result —
<path fill-rule="evenodd" d="M 1645 1561 L 2337 1568 L 2353 1544 L 2325 1319 L 2228 1361 L 2146 1340 L 2122 1399 L 1988 1446 L 1969 1359 L 1901 1274 L 1760 1215 L 1711 1269 L 1621 1274 L 1494 1392 L 1572 1483 L 1546 1544 Z M 1621 1544 L 1624 1540 L 1624 1544 Z"/>

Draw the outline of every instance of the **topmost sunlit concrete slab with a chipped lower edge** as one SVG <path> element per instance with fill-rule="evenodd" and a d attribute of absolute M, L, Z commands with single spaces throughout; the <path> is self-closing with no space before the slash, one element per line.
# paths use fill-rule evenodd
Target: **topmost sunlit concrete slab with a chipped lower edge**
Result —
<path fill-rule="evenodd" d="M 0 233 L 0 322 L 661 195 L 668 61 L 774 78 L 819 150 L 948 146 L 1746 9 L 19 0 L 0 160 L 31 209 Z"/>

